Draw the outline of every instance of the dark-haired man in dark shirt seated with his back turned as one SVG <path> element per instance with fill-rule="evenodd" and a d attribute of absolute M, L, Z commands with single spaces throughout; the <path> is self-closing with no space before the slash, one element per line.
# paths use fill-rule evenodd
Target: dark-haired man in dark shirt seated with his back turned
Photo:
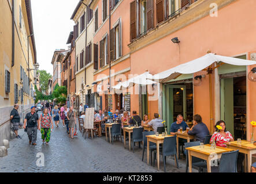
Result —
<path fill-rule="evenodd" d="M 188 135 L 195 136 L 195 140 L 200 141 L 201 143 L 203 143 L 207 135 L 210 135 L 208 128 L 202 122 L 202 117 L 199 114 L 195 114 L 193 126 L 190 131 L 188 131 Z"/>

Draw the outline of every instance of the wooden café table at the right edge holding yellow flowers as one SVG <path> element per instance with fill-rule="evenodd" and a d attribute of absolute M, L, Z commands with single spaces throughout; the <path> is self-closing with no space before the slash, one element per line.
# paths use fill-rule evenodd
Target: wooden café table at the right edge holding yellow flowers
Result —
<path fill-rule="evenodd" d="M 227 144 L 227 148 L 239 150 L 239 152 L 246 154 L 244 158 L 244 171 L 246 171 L 247 168 L 248 173 L 251 173 L 251 156 L 256 154 L 256 145 L 246 140 L 242 140 L 241 144 L 239 144 L 238 141 L 231 141 L 225 144 Z"/>

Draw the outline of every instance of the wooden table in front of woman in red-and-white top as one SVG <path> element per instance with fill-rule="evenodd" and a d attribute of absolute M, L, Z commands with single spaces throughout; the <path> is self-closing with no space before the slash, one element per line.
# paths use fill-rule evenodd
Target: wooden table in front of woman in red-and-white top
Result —
<path fill-rule="evenodd" d="M 188 151 L 188 166 L 190 167 L 190 173 L 192 173 L 192 156 L 206 160 L 207 171 L 211 173 L 211 161 L 221 158 L 221 154 L 224 152 L 233 151 L 230 148 L 223 148 L 216 146 L 214 150 L 210 149 L 210 144 L 205 144 L 204 148 L 200 148 L 200 145 L 185 148 Z"/>

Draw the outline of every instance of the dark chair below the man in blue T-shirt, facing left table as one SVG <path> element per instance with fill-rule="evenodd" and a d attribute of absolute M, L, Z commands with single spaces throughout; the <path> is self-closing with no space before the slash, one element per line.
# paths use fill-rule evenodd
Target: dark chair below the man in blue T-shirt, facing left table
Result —
<path fill-rule="evenodd" d="M 178 163 L 178 159 L 177 159 L 177 151 L 176 151 L 176 136 L 165 137 L 163 147 L 162 147 L 162 149 L 160 149 L 160 153 L 162 154 L 165 172 L 166 172 L 166 168 L 165 168 L 166 156 L 174 155 L 176 167 L 179 168 L 179 163 Z M 156 151 L 154 151 L 154 166 L 155 166 L 155 158 L 156 158 Z"/>

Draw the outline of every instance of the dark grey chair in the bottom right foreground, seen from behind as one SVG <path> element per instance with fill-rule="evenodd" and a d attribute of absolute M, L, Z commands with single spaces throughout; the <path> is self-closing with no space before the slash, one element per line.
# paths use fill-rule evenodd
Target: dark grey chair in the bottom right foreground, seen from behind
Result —
<path fill-rule="evenodd" d="M 238 152 L 239 150 L 222 153 L 219 166 L 211 167 L 212 173 L 238 173 Z M 203 169 L 207 171 L 207 167 Z"/>

